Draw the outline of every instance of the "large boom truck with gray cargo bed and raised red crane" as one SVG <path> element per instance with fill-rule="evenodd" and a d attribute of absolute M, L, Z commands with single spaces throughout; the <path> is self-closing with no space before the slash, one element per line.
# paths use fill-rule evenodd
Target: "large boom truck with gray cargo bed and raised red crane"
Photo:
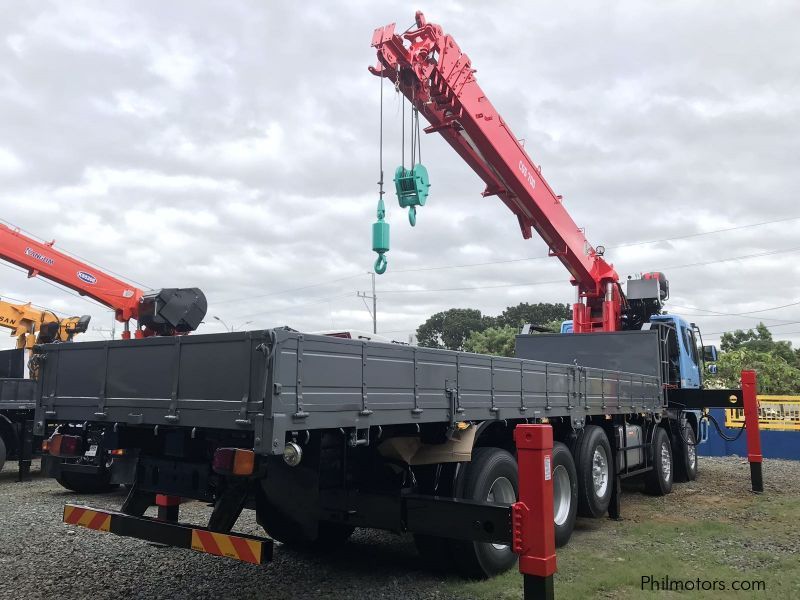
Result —
<path fill-rule="evenodd" d="M 516 560 L 517 425 L 552 427 L 545 473 L 563 545 L 578 514 L 619 515 L 622 478 L 663 495 L 694 477 L 685 409 L 741 405 L 740 390 L 699 386 L 681 321 L 650 317 L 663 277 L 623 294 L 452 37 L 417 13 L 416 27 L 381 27 L 372 45 L 372 72 L 567 266 L 577 333 L 520 336 L 515 358 L 286 328 L 45 345 L 36 428 L 59 425 L 50 454 L 103 450 L 112 474 L 134 474 L 120 510 L 67 505 L 66 523 L 252 563 L 273 540 L 322 550 L 356 527 L 411 532 L 431 562 L 487 577 Z M 180 523 L 188 499 L 213 506 L 206 526 Z M 144 516 L 153 505 L 158 518 Z M 269 538 L 232 531 L 245 508 Z"/>

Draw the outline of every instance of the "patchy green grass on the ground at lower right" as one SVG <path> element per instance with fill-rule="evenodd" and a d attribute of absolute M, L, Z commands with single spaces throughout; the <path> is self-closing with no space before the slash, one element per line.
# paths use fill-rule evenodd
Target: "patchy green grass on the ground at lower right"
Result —
<path fill-rule="evenodd" d="M 691 493 L 681 487 L 666 498 L 626 493 L 623 521 L 579 519 L 572 540 L 558 551 L 556 598 L 800 598 L 796 493 L 759 496 L 731 489 L 714 495 L 703 491 L 701 481 L 689 484 Z M 717 580 L 727 590 L 643 591 L 643 576 Z M 764 581 L 766 591 L 732 592 L 731 584 L 742 580 Z M 522 598 L 516 571 L 448 585 L 461 597 Z"/>

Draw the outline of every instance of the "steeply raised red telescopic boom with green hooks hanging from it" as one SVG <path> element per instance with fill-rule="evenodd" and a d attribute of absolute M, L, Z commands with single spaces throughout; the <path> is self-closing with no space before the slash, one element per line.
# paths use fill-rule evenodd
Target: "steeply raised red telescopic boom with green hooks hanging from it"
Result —
<path fill-rule="evenodd" d="M 395 24 L 375 30 L 378 65 L 425 116 L 426 133 L 441 134 L 519 221 L 522 236 L 535 230 L 572 275 L 578 300 L 573 330 L 617 331 L 624 298 L 614 267 L 588 242 L 475 79 L 475 69 L 452 36 L 416 14 L 417 28 L 401 36 Z M 405 41 L 404 41 L 405 40 Z M 405 42 L 408 42 L 406 45 Z"/>

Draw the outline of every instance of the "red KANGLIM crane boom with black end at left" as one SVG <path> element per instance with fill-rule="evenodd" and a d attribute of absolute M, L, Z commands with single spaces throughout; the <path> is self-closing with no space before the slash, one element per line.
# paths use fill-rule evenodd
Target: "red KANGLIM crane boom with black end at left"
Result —
<path fill-rule="evenodd" d="M 130 338 L 129 321 L 136 319 L 136 337 L 188 333 L 206 313 L 206 299 L 197 288 L 169 288 L 146 292 L 97 267 L 0 223 L 0 259 L 22 267 L 28 277 L 42 277 L 114 309 L 125 324 L 122 337 Z"/>

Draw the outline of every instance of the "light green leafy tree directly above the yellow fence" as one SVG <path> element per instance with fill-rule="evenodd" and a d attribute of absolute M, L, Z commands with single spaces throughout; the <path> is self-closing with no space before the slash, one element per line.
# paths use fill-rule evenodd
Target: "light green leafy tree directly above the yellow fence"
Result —
<path fill-rule="evenodd" d="M 783 357 L 740 347 L 723 352 L 717 361 L 717 374 L 709 378 L 711 387 L 739 387 L 742 370 L 758 372 L 758 391 L 762 394 L 796 394 L 800 391 L 800 369 Z"/>

